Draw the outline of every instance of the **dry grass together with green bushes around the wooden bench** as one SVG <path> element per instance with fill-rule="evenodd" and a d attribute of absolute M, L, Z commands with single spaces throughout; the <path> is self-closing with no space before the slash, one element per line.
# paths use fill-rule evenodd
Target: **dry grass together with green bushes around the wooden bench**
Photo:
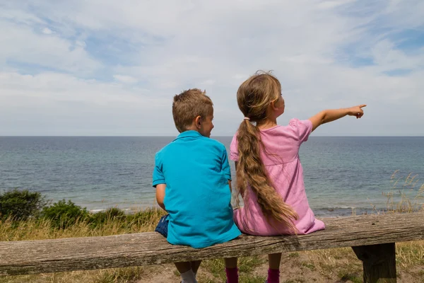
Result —
<path fill-rule="evenodd" d="M 423 212 L 424 185 L 416 175 L 391 176 L 386 209 L 375 213 Z M 143 209 L 126 214 L 111 207 L 91 213 L 71 200 L 48 202 L 39 192 L 8 190 L 0 193 L 0 241 L 42 240 L 154 231 L 163 210 Z M 396 244 L 398 282 L 424 282 L 424 241 Z M 264 256 L 240 258 L 240 282 L 264 282 Z M 224 282 L 222 260 L 202 263 L 199 282 Z M 173 265 L 127 267 L 106 270 L 58 272 L 42 275 L 0 277 L 0 283 L 15 282 L 178 282 Z M 363 282 L 362 262 L 350 248 L 313 250 L 283 255 L 281 282 Z"/>

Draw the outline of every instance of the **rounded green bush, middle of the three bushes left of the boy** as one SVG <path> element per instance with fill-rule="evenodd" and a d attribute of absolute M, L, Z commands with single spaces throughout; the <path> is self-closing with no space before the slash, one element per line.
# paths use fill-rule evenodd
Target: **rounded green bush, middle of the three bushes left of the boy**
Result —
<path fill-rule="evenodd" d="M 81 208 L 70 200 L 59 200 L 49 207 L 43 207 L 41 216 L 52 221 L 55 228 L 66 229 L 78 220 L 88 220 L 89 214 L 85 207 Z"/>

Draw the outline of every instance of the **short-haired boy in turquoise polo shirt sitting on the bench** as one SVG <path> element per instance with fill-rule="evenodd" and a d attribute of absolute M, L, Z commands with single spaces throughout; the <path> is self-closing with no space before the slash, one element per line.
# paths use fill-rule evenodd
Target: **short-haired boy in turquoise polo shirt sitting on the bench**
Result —
<path fill-rule="evenodd" d="M 205 248 L 240 235 L 232 221 L 231 173 L 227 151 L 209 139 L 213 103 L 205 92 L 189 89 L 174 97 L 172 115 L 179 136 L 155 156 L 153 187 L 168 213 L 156 231 L 173 245 Z M 201 261 L 176 262 L 182 282 L 196 283 Z M 228 283 L 237 282 L 237 258 L 225 259 Z"/>

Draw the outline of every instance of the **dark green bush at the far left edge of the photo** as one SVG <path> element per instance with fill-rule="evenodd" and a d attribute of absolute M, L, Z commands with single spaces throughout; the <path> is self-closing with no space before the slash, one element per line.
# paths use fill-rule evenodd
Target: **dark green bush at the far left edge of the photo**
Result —
<path fill-rule="evenodd" d="M 0 219 L 11 217 L 16 221 L 26 220 L 38 216 L 46 204 L 40 192 L 9 190 L 0 195 Z"/>

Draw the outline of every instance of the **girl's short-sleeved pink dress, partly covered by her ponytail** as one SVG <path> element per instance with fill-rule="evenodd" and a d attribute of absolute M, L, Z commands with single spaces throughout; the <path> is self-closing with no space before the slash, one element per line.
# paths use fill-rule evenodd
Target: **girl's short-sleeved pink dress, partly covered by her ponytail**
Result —
<path fill-rule="evenodd" d="M 307 234 L 325 229 L 324 222 L 315 219 L 314 212 L 307 202 L 305 183 L 303 183 L 303 169 L 299 159 L 299 148 L 303 141 L 307 141 L 312 132 L 310 120 L 290 120 L 288 126 L 276 126 L 261 130 L 261 139 L 266 154 L 261 152 L 269 178 L 285 203 L 299 215 L 295 221 L 298 234 Z M 237 134 L 232 138 L 230 159 L 238 161 Z M 283 224 L 271 220 L 266 221 L 261 208 L 257 203 L 257 195 L 247 188 L 244 197 L 245 206 L 235 209 L 234 221 L 240 231 L 250 235 L 271 236 L 291 234 Z"/>

